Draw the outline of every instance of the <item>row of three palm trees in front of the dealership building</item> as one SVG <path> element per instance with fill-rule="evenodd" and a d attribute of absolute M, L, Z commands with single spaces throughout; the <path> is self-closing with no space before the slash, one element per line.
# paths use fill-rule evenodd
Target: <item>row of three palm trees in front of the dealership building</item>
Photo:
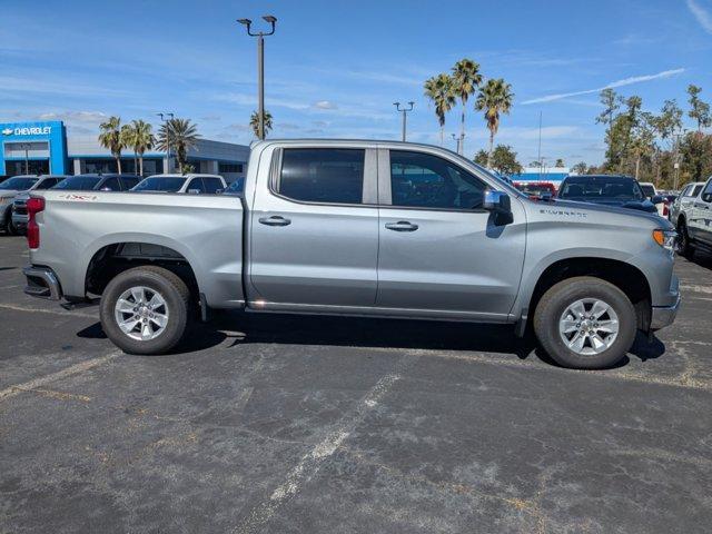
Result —
<path fill-rule="evenodd" d="M 121 152 L 134 151 L 135 168 L 144 176 L 144 155 L 154 148 L 167 154 L 175 152 L 180 174 L 190 171 L 188 150 L 194 148 L 200 138 L 197 125 L 190 119 L 172 118 L 161 125 L 158 135 L 154 127 L 144 120 L 132 120 L 121 125 L 120 117 L 109 117 L 99 125 L 99 144 L 111 152 L 121 174 Z"/>

